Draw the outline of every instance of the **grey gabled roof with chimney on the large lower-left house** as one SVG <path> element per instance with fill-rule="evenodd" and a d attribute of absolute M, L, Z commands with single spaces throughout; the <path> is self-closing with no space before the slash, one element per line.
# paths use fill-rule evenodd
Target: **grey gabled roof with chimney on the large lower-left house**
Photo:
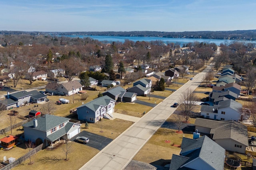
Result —
<path fill-rule="evenodd" d="M 38 131 L 47 132 L 50 129 L 57 127 L 58 125 L 70 120 L 69 118 L 66 118 L 66 117 L 60 117 L 60 116 L 54 116 L 54 115 L 48 115 L 48 114 L 38 117 L 36 119 L 38 124 L 37 127 L 34 127 L 33 120 L 23 124 L 22 126 L 30 127 Z"/>

